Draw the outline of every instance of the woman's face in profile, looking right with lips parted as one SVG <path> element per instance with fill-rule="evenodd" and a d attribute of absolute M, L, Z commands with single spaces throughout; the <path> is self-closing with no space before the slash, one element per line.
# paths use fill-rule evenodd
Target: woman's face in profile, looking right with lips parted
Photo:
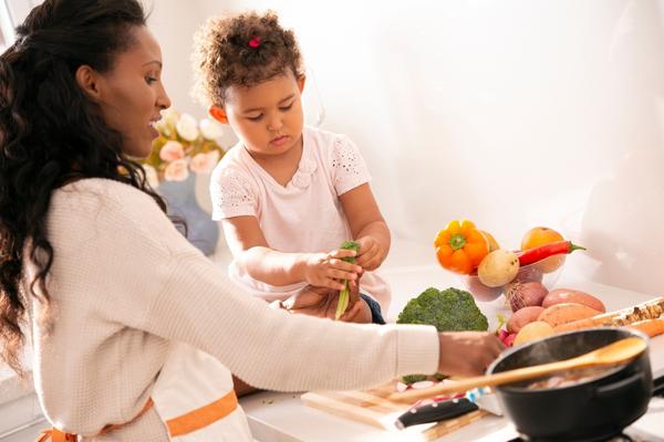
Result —
<path fill-rule="evenodd" d="M 135 43 L 98 76 L 98 103 L 106 124 L 124 137 L 123 151 L 145 158 L 159 134 L 155 123 L 170 107 L 162 83 L 162 50 L 145 27 L 134 28 Z"/>

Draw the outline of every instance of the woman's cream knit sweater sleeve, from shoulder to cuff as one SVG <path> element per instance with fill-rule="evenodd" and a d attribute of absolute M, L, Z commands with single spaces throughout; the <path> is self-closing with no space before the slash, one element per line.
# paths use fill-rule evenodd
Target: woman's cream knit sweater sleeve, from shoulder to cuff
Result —
<path fill-rule="evenodd" d="M 95 217 L 122 225 L 102 249 L 106 272 L 113 269 L 124 293 L 105 311 L 108 320 L 189 344 L 271 390 L 365 388 L 437 370 L 435 327 L 356 325 L 271 309 L 193 246 L 149 197 L 108 186 L 112 201 Z M 89 248 L 100 249 L 100 236 Z"/>

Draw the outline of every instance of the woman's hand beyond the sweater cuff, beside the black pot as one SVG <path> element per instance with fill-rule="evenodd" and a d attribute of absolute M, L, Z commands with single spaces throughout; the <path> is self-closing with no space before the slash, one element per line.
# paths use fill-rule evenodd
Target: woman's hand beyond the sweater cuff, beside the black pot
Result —
<path fill-rule="evenodd" d="M 445 375 L 484 375 L 505 349 L 500 339 L 487 332 L 439 333 L 438 340 L 438 371 Z"/>

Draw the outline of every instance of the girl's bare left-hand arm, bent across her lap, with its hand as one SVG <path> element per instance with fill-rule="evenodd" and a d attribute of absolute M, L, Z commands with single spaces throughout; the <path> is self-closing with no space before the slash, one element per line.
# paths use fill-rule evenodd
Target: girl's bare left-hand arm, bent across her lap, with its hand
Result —
<path fill-rule="evenodd" d="M 354 256 L 354 251 L 286 253 L 270 249 L 256 217 L 227 218 L 222 225 L 238 265 L 255 280 L 276 286 L 304 281 L 319 287 L 343 290 L 340 281 L 355 280 L 362 272 L 359 265 L 341 260 Z"/>

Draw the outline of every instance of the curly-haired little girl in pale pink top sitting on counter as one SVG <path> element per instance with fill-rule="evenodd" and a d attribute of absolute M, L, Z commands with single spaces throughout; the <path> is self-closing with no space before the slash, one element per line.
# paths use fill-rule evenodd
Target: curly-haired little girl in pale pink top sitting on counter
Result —
<path fill-rule="evenodd" d="M 305 77 L 292 31 L 272 12 L 212 19 L 196 55 L 199 97 L 240 139 L 210 185 L 212 217 L 235 257 L 231 278 L 273 301 L 305 284 L 339 291 L 362 274 L 370 317 L 382 323 L 390 290 L 373 271 L 387 255 L 390 230 L 353 141 L 303 126 Z M 356 264 L 339 250 L 351 239 L 360 243 Z"/>

